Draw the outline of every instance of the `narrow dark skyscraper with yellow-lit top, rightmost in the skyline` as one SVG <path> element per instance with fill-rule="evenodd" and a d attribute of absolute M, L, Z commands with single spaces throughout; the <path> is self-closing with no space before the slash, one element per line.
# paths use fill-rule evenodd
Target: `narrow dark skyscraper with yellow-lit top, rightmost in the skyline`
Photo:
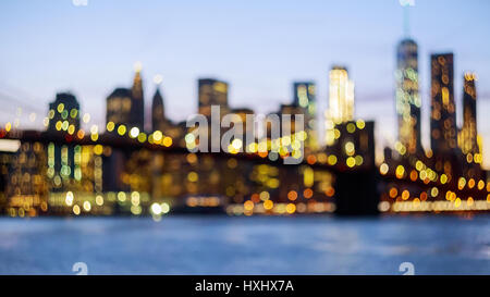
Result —
<path fill-rule="evenodd" d="M 460 147 L 464 154 L 479 153 L 476 123 L 476 75 L 466 73 L 463 87 L 463 127 L 460 134 Z M 473 158 L 473 157 L 468 157 Z"/>

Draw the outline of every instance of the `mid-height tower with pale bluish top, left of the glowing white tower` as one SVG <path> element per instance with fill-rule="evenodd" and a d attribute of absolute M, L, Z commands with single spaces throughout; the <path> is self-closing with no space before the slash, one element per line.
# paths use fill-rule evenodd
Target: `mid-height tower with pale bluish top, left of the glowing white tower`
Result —
<path fill-rule="evenodd" d="M 317 147 L 316 135 L 316 89 L 313 82 L 296 82 L 293 84 L 293 106 L 301 108 L 305 116 L 305 131 L 307 133 L 306 146 L 315 149 Z"/>

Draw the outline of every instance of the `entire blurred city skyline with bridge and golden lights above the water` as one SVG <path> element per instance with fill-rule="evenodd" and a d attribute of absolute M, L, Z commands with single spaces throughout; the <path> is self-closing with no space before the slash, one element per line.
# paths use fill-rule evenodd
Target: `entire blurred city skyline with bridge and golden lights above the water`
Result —
<path fill-rule="evenodd" d="M 316 85 L 295 82 L 292 102 L 269 115 L 290 115 L 294 121 L 302 114 L 302 131 L 282 127 L 280 137 L 272 138 L 266 125 L 265 137 L 250 144 L 231 139 L 230 149 L 221 153 L 196 152 L 199 139 L 194 129 L 167 117 L 159 76 L 146 122 L 140 70 L 137 65 L 131 88 L 117 88 L 107 97 L 106 127 L 93 125 L 85 131 L 81 122 L 88 122 L 87 114 L 82 115 L 76 98 L 58 94 L 49 106 L 47 131 L 38 132 L 36 140 L 24 139 L 15 150 L 0 152 L 2 211 L 12 216 L 155 218 L 172 210 L 217 209 L 247 215 L 375 213 L 442 211 L 451 206 L 457 210 L 457 200 L 466 203 L 466 210 L 488 210 L 485 200 L 490 201 L 490 186 L 481 169 L 476 124 L 477 78 L 473 73 L 463 76 L 463 125 L 458 128 L 452 53 L 431 55 L 431 149 L 424 149 L 417 45 L 412 39 L 400 42 L 397 141 L 393 149 L 384 149 L 379 168 L 375 123 L 355 117 L 354 83 L 344 66 L 335 65 L 329 73 L 323 143 L 319 141 Z M 198 114 L 209 117 L 211 107 L 219 106 L 221 116 L 241 116 L 245 133 L 246 115 L 254 111 L 231 108 L 228 94 L 225 82 L 198 79 Z M 26 133 L 17 133 L 19 138 Z M 17 134 L 5 126 L 0 138 Z M 280 162 L 291 156 L 303 161 L 294 166 Z M 448 206 L 427 205 L 430 200 Z M 470 201 L 475 201 L 473 208 Z"/>

